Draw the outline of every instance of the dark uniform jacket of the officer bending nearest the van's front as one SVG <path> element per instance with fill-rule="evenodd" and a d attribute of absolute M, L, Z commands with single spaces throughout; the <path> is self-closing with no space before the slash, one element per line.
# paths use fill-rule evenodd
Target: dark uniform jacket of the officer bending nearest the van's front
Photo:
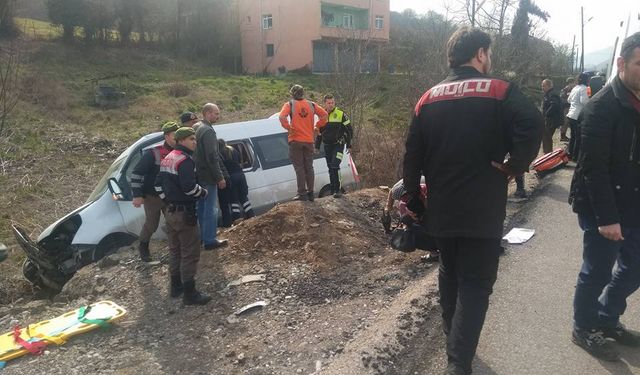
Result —
<path fill-rule="evenodd" d="M 154 185 L 160 172 L 160 162 L 172 150 L 173 148 L 164 142 L 142 154 L 142 158 L 131 172 L 131 193 L 134 198 L 158 195 Z"/>

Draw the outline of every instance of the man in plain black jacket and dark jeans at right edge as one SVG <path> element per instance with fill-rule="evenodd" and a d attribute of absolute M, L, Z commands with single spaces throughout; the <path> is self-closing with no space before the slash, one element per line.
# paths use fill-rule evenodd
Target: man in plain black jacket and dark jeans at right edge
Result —
<path fill-rule="evenodd" d="M 640 33 L 623 42 L 617 66 L 618 76 L 582 112 L 569 197 L 584 231 L 572 340 L 611 361 L 619 355 L 607 338 L 640 346 L 620 323 L 640 286 Z"/>

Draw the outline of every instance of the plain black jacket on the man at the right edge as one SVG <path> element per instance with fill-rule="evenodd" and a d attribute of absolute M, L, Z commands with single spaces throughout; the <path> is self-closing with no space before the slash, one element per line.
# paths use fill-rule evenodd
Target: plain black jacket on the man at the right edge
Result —
<path fill-rule="evenodd" d="M 632 95 L 616 77 L 580 114 L 569 203 L 599 226 L 640 227 L 640 103 Z"/>

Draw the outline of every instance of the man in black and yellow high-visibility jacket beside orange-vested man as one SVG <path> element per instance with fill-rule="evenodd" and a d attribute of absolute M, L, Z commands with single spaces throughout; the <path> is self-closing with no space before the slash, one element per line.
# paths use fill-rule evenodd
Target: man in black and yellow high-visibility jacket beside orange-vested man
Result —
<path fill-rule="evenodd" d="M 331 194 L 335 198 L 342 197 L 342 184 L 340 179 L 340 163 L 344 154 L 344 146 L 351 150 L 353 127 L 351 120 L 338 107 L 336 99 L 331 94 L 324 96 L 324 108 L 329 113 L 327 125 L 320 128 L 320 135 L 316 139 L 316 149 L 320 148 L 320 142 L 324 143 L 324 155 L 329 167 L 329 181 L 331 182 Z"/>

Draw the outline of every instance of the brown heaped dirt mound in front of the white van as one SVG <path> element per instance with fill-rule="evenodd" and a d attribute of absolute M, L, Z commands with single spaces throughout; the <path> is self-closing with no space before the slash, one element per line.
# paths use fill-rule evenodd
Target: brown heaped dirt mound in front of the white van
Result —
<path fill-rule="evenodd" d="M 353 252 L 379 246 L 378 215 L 385 193 L 369 189 L 315 202 L 279 204 L 266 214 L 227 231 L 232 253 L 243 259 L 308 263 L 334 268 Z"/>

